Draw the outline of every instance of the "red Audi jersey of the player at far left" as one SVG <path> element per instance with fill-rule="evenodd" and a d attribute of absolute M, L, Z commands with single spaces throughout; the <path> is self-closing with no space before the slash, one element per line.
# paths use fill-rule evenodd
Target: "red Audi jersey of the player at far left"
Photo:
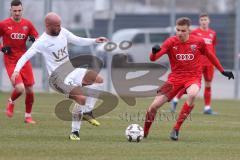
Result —
<path fill-rule="evenodd" d="M 26 41 L 28 36 L 38 37 L 38 32 L 33 24 L 22 18 L 20 22 L 7 18 L 0 22 L 0 37 L 3 40 L 3 46 L 11 48 L 10 54 L 4 54 L 5 63 L 17 63 L 18 59 L 26 52 Z"/>

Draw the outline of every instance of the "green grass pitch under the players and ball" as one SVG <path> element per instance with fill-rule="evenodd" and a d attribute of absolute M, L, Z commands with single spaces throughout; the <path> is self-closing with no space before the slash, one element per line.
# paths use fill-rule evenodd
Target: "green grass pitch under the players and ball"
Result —
<path fill-rule="evenodd" d="M 120 102 L 112 112 L 100 117 L 100 127 L 83 123 L 81 141 L 70 141 L 70 122 L 59 120 L 54 106 L 63 99 L 57 94 L 37 94 L 33 109 L 36 125 L 24 124 L 24 99 L 16 103 L 14 117 L 5 116 L 9 94 L 0 93 L 0 159 L 1 160 L 239 160 L 240 101 L 215 100 L 219 114 L 202 114 L 203 101 L 197 104 L 191 119 L 180 132 L 180 140 L 169 140 L 174 124 L 168 104 L 161 108 L 147 139 L 130 143 L 124 132 L 131 123 L 143 126 L 144 111 L 152 99 L 139 99 L 136 107 Z M 182 101 L 180 105 L 182 104 Z M 127 114 L 126 114 L 127 113 Z"/>

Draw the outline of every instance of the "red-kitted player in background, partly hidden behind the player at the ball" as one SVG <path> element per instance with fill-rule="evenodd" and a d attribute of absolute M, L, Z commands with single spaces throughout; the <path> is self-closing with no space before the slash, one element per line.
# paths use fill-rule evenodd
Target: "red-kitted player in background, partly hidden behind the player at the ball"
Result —
<path fill-rule="evenodd" d="M 196 28 L 191 32 L 191 34 L 196 35 L 198 37 L 201 37 L 207 48 L 209 49 L 210 53 L 213 55 L 216 55 L 216 32 L 209 28 L 210 18 L 208 14 L 203 13 L 199 16 L 199 28 Z M 214 66 L 213 64 L 208 60 L 206 56 L 202 56 L 202 72 L 203 77 L 205 81 L 205 89 L 204 89 L 204 114 L 214 114 L 212 108 L 211 108 L 211 83 L 213 80 L 214 75 Z M 180 91 L 176 97 L 174 97 L 171 105 L 171 111 L 175 112 L 178 100 L 182 97 L 185 90 Z"/>

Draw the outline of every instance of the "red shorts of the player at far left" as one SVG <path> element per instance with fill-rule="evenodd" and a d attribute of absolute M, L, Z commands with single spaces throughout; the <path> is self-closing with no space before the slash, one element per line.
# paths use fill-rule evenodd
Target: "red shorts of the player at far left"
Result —
<path fill-rule="evenodd" d="M 8 73 L 8 77 L 11 78 L 16 64 L 5 63 L 5 67 Z M 28 61 L 20 70 L 19 76 L 16 78 L 15 84 L 23 83 L 25 86 L 34 85 L 34 77 L 32 72 L 32 64 Z"/>

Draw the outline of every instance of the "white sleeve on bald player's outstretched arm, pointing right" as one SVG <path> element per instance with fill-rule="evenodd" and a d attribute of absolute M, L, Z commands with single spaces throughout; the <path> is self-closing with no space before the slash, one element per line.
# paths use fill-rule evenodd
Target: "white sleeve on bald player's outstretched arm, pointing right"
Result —
<path fill-rule="evenodd" d="M 77 46 L 89 46 L 89 45 L 96 44 L 95 38 L 78 37 L 78 36 L 74 35 L 73 33 L 71 33 L 70 31 L 68 31 L 67 29 L 65 29 L 65 28 L 62 28 L 62 29 L 64 30 L 64 33 L 66 34 L 67 40 L 69 43 L 72 43 Z"/>

